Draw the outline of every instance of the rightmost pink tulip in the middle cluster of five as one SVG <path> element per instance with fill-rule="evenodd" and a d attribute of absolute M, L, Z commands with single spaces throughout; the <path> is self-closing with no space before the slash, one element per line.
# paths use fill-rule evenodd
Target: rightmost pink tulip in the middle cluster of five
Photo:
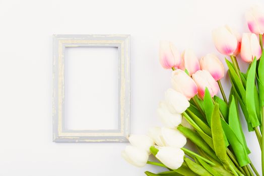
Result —
<path fill-rule="evenodd" d="M 216 81 L 225 76 L 225 68 L 223 63 L 214 54 L 207 54 L 200 60 L 202 70 L 207 70 L 214 77 Z"/>

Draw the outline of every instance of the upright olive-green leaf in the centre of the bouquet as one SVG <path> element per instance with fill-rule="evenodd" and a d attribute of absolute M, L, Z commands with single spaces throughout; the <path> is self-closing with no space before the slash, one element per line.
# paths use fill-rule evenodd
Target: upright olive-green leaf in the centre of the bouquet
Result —
<path fill-rule="evenodd" d="M 211 129 L 212 129 L 212 138 L 213 138 L 216 155 L 222 162 L 226 162 L 227 161 L 226 142 L 221 125 L 219 104 L 217 103 L 215 104 L 212 113 Z"/>

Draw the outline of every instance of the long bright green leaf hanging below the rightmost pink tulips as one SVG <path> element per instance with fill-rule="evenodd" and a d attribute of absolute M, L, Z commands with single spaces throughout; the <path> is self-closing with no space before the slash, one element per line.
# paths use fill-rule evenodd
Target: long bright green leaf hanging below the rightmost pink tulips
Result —
<path fill-rule="evenodd" d="M 260 125 L 255 108 L 254 101 L 254 85 L 255 85 L 255 73 L 256 73 L 256 59 L 251 63 L 248 70 L 247 80 L 246 80 L 246 109 L 248 112 L 248 117 L 252 124 L 252 127 L 257 127 Z"/>

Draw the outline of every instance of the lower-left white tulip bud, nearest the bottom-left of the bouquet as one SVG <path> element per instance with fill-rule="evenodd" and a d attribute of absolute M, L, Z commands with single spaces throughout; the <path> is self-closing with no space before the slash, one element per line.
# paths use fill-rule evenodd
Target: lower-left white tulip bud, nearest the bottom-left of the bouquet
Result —
<path fill-rule="evenodd" d="M 128 163 L 137 167 L 143 167 L 149 159 L 149 153 L 147 151 L 130 145 L 125 147 L 121 155 Z"/>

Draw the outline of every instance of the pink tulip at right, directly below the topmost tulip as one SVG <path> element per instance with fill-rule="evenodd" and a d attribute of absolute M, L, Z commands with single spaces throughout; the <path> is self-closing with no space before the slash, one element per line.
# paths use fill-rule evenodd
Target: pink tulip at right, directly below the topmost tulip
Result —
<path fill-rule="evenodd" d="M 241 42 L 241 58 L 245 62 L 252 62 L 254 57 L 261 56 L 261 47 L 255 34 L 244 33 Z"/>

